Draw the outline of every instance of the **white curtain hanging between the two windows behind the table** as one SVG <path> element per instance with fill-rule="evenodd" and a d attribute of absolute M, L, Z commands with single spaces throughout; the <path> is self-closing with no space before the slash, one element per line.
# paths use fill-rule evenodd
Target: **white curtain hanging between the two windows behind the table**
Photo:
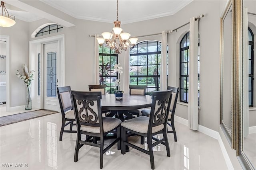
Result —
<path fill-rule="evenodd" d="M 124 66 L 123 66 L 123 76 L 121 80 L 122 90 L 124 93 L 129 93 L 130 84 L 130 48 L 124 51 Z"/>

